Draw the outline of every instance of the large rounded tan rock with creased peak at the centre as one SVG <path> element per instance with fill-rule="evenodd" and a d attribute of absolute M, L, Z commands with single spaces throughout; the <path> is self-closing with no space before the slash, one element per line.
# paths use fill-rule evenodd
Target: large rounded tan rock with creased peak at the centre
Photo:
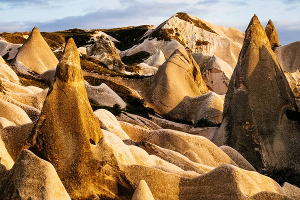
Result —
<path fill-rule="evenodd" d="M 199 66 L 189 49 L 177 49 L 165 61 L 153 77 L 148 89 L 148 104 L 157 112 L 165 114 L 185 96 L 198 96 L 208 92 L 201 77 Z"/>

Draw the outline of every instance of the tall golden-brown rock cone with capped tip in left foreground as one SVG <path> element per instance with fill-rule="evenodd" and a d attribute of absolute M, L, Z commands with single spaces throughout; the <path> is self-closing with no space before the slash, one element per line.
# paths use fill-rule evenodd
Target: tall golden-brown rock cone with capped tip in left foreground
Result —
<path fill-rule="evenodd" d="M 67 191 L 84 188 L 91 143 L 99 141 L 102 131 L 89 105 L 72 38 L 66 43 L 32 135 L 29 149 L 53 164 Z"/>

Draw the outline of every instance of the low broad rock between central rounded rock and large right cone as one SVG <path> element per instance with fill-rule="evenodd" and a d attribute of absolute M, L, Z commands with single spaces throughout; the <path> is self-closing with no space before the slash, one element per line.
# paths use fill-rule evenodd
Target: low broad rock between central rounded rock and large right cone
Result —
<path fill-rule="evenodd" d="M 166 116 L 201 126 L 215 125 L 222 122 L 223 104 L 224 96 L 212 91 L 196 97 L 185 96 Z"/>

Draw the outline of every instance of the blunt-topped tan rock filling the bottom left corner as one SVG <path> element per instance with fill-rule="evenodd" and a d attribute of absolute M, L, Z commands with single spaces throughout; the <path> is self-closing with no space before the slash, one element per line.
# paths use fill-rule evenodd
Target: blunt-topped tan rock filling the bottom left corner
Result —
<path fill-rule="evenodd" d="M 0 173 L 1 199 L 70 199 L 54 167 L 29 150 L 22 150 L 13 167 Z"/>

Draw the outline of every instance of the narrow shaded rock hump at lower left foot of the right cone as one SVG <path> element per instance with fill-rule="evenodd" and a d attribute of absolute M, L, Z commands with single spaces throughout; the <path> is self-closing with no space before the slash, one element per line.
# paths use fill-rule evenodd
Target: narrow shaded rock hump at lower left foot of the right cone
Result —
<path fill-rule="evenodd" d="M 234 148 L 230 146 L 219 146 L 222 151 L 224 151 L 236 164 L 239 168 L 246 169 L 248 171 L 256 171 L 254 167 Z"/>

